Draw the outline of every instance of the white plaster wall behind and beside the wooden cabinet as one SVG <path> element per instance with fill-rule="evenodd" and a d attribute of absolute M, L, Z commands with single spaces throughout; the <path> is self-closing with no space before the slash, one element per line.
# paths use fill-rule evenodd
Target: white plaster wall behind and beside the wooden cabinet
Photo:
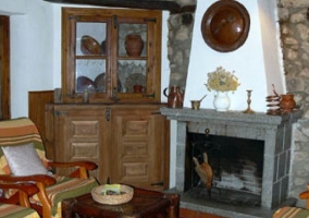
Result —
<path fill-rule="evenodd" d="M 28 92 L 61 87 L 61 8 L 42 0 L 1 0 L 11 21 L 11 114 L 28 116 Z M 85 7 L 85 5 L 83 5 Z M 162 27 L 162 89 L 169 84 L 168 13 Z M 164 40 L 165 39 L 165 40 Z M 162 100 L 165 100 L 163 98 Z"/>

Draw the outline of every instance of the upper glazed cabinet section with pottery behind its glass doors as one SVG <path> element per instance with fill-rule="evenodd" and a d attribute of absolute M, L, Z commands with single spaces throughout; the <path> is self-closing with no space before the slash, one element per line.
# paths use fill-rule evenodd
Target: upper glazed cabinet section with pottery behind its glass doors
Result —
<path fill-rule="evenodd" d="M 161 23 L 154 10 L 63 8 L 62 102 L 160 102 Z"/>

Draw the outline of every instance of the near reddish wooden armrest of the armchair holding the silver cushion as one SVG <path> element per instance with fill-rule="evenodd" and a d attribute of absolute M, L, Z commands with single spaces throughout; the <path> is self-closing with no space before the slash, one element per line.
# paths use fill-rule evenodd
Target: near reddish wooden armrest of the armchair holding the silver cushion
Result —
<path fill-rule="evenodd" d="M 55 183 L 55 179 L 47 174 L 33 174 L 26 177 L 1 174 L 0 180 L 4 182 L 40 182 L 47 186 Z"/>

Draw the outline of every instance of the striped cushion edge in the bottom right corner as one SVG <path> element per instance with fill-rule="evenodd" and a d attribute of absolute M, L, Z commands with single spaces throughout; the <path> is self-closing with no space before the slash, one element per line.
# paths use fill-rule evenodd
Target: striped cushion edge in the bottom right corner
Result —
<path fill-rule="evenodd" d="M 299 207 L 282 207 L 277 209 L 273 218 L 309 218 L 309 210 Z"/>

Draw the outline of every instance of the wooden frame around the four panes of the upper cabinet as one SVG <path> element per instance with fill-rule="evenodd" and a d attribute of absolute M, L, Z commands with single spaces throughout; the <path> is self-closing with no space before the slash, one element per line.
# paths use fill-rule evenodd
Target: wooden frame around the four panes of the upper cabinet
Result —
<path fill-rule="evenodd" d="M 76 23 L 107 23 L 106 53 L 76 55 Z M 118 24 L 147 25 L 145 57 L 118 55 Z M 160 102 L 161 100 L 161 25 L 162 13 L 150 10 L 120 9 L 62 9 L 62 102 L 83 102 L 83 92 L 76 92 L 76 60 L 106 61 L 106 92 L 90 92 L 90 102 Z M 118 62 L 136 60 L 146 62 L 146 90 L 144 93 L 118 92 Z M 81 77 L 81 76 L 79 76 Z M 124 85 L 124 84 L 123 84 Z"/>

